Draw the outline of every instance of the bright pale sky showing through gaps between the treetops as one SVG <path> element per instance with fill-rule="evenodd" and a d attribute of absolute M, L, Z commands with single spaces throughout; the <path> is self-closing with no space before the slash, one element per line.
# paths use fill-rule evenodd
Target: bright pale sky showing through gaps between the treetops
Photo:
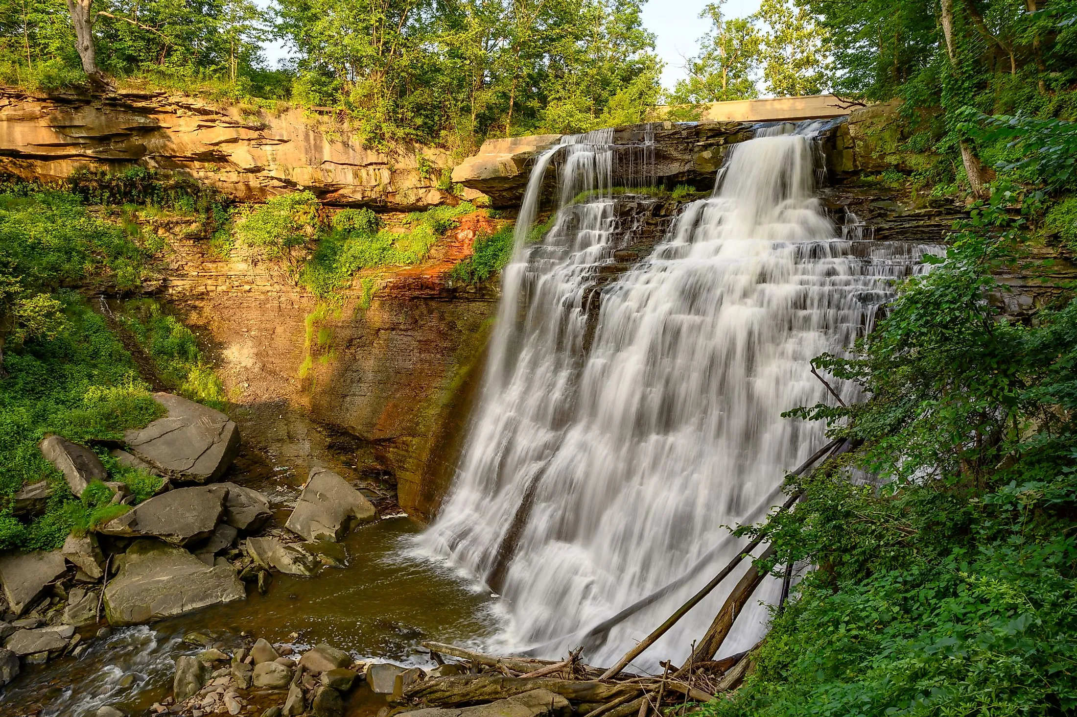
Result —
<path fill-rule="evenodd" d="M 685 58 L 691 57 L 699 49 L 697 40 L 711 28 L 699 17 L 709 0 L 648 0 L 643 6 L 643 25 L 655 33 L 656 50 L 665 60 L 662 86 L 672 89 L 677 80 L 685 77 Z M 268 0 L 256 0 L 262 6 Z M 759 9 L 759 0 L 727 0 L 723 11 L 726 17 L 744 17 Z M 288 53 L 280 42 L 265 44 L 266 56 L 271 65 Z"/>

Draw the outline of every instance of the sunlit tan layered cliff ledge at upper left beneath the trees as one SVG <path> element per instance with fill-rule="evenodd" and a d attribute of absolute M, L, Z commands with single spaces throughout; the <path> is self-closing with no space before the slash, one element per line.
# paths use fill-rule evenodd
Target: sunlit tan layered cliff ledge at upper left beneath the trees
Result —
<path fill-rule="evenodd" d="M 0 91 L 0 169 L 57 180 L 78 167 L 132 163 L 243 201 L 306 189 L 330 204 L 416 209 L 445 201 L 436 184 L 448 155 L 424 147 L 364 149 L 334 118 L 311 119 L 300 108 L 252 118 L 165 93 Z"/>

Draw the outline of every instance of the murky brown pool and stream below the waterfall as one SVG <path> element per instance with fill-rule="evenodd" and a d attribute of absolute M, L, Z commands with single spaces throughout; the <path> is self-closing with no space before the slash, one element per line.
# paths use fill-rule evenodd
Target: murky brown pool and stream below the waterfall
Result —
<path fill-rule="evenodd" d="M 225 649 L 256 637 L 296 648 L 326 642 L 356 658 L 419 665 L 429 664 L 415 651 L 422 639 L 484 642 L 498 631 L 495 601 L 418 553 L 412 536 L 421 529 L 407 518 L 363 526 L 345 541 L 346 568 L 314 578 L 275 575 L 266 595 L 250 588 L 246 601 L 92 640 L 81 659 L 64 658 L 16 679 L 0 694 L 0 714 L 88 717 L 104 704 L 142 714 L 171 691 L 174 659 L 201 649 L 183 642 L 193 631 Z M 363 688 L 348 714 L 374 715 L 384 705 Z"/>

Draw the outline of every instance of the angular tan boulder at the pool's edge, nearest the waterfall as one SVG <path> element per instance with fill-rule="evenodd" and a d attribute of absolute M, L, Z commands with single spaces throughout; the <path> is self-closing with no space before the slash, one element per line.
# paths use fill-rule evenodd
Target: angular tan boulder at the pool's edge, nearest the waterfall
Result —
<path fill-rule="evenodd" d="M 325 468 L 311 468 L 285 527 L 307 540 L 337 541 L 354 524 L 376 520 L 377 514 L 348 481 Z"/>

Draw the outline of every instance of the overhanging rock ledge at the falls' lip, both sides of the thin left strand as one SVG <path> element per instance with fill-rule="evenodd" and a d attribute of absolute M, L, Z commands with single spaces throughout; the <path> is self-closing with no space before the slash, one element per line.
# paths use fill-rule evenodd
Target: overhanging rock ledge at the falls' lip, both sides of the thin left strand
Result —
<path fill-rule="evenodd" d="M 710 189 L 728 146 L 751 137 L 751 126 L 740 122 L 655 122 L 617 127 L 612 135 L 618 146 L 614 183 L 684 182 Z M 478 154 L 452 170 L 452 181 L 489 195 L 494 206 L 518 206 L 535 157 L 560 141 L 560 135 L 487 140 Z"/>

